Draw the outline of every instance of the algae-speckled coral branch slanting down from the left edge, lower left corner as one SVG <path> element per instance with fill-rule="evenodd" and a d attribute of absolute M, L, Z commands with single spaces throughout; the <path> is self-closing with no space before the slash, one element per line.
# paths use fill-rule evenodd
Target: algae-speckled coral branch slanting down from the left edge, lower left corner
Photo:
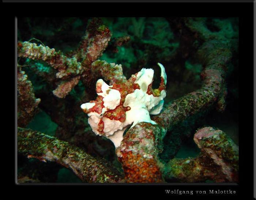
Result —
<path fill-rule="evenodd" d="M 123 182 L 120 173 L 106 161 L 95 159 L 82 149 L 41 132 L 18 127 L 18 152 L 28 158 L 54 161 L 69 167 L 86 182 Z"/>

